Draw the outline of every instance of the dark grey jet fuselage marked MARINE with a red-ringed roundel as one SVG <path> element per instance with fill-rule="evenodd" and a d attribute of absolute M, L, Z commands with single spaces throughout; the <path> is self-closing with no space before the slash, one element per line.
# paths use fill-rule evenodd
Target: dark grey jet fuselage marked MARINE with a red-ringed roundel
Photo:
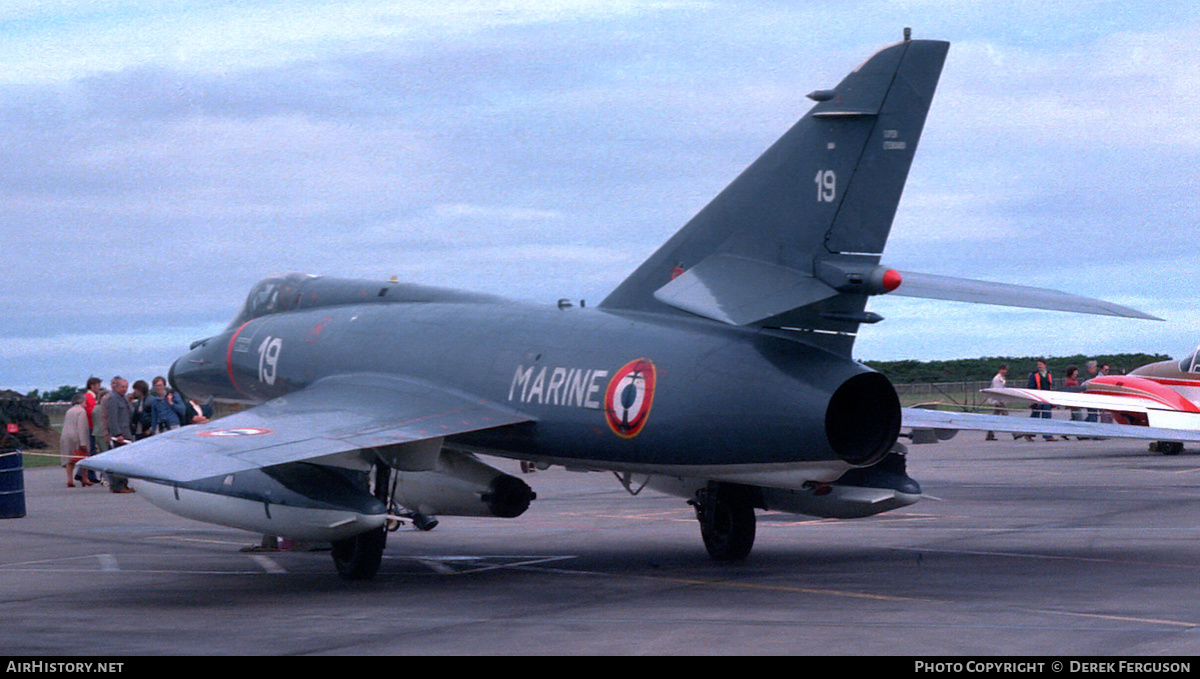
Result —
<path fill-rule="evenodd" d="M 803 467 L 796 482 L 832 481 L 877 462 L 899 431 L 886 378 L 792 334 L 574 306 L 337 304 L 268 313 L 206 340 L 170 374 L 190 398 L 257 403 L 355 373 L 430 380 L 534 419 L 448 445 L 584 468 Z"/>

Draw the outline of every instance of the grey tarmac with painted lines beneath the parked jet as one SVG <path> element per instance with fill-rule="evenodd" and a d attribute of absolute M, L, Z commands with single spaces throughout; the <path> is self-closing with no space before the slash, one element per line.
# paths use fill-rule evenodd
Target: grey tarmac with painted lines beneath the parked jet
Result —
<path fill-rule="evenodd" d="M 730 565 L 682 499 L 554 468 L 523 475 L 523 517 L 406 525 L 350 583 L 328 552 L 245 552 L 260 536 L 26 469 L 28 515 L 0 521 L 0 655 L 1200 651 L 1195 451 L 965 432 L 910 446 L 908 471 L 928 499 L 760 512 Z"/>

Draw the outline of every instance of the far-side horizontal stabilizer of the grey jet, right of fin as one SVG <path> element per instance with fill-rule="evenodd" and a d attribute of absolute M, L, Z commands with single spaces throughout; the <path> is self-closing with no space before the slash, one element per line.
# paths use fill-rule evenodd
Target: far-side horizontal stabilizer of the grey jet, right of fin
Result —
<path fill-rule="evenodd" d="M 893 295 L 1163 320 L 1135 308 L 1058 290 L 910 271 L 901 271 L 900 276 L 904 283 Z"/>

